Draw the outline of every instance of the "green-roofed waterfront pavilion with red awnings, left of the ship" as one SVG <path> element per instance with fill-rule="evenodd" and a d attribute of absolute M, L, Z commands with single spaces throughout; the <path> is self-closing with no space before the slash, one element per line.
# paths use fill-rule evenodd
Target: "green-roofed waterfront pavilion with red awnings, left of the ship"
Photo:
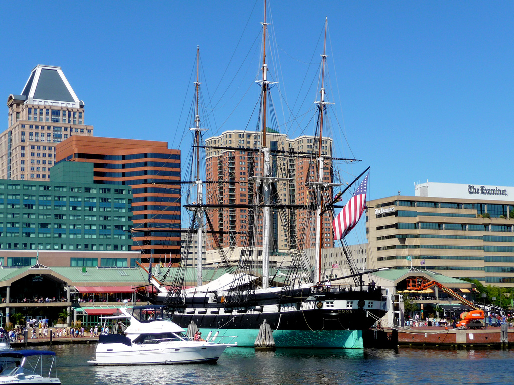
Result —
<path fill-rule="evenodd" d="M 0 323 L 14 325 L 14 314 L 21 314 L 22 325 L 47 318 L 51 326 L 67 311 L 68 325 L 96 324 L 101 315 L 144 301 L 147 285 L 148 275 L 138 267 L 0 266 Z"/>

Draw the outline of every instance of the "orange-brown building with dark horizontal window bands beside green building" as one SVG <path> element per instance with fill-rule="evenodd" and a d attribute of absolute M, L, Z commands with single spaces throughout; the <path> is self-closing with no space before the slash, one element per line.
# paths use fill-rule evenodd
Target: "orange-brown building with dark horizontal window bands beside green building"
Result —
<path fill-rule="evenodd" d="M 94 163 L 95 183 L 131 186 L 132 249 L 178 263 L 180 150 L 167 142 L 73 136 L 56 146 L 56 163 L 62 161 Z"/>

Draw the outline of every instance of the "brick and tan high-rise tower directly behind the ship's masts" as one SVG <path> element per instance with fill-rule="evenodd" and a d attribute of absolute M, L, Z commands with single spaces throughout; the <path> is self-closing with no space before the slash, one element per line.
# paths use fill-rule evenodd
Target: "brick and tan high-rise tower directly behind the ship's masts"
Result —
<path fill-rule="evenodd" d="M 261 153 L 256 150 L 260 146 L 260 133 L 232 130 L 206 140 L 207 181 L 219 184 L 207 185 L 208 204 L 221 204 L 227 207 L 209 209 L 213 229 L 218 232 L 221 246 L 229 254 L 232 261 L 238 260 L 240 253 L 247 253 L 250 226 L 262 229 L 262 218 L 249 218 L 250 209 L 243 207 L 251 204 L 254 194 L 254 182 L 250 176 L 259 174 Z M 283 205 L 308 205 L 312 199 L 306 185 L 315 181 L 316 156 L 318 139 L 302 136 L 288 139 L 286 135 L 269 130 L 266 134 L 266 145 L 271 149 L 272 176 L 277 182 L 272 187 L 273 201 Z M 211 148 L 209 148 L 211 147 Z M 322 155 L 332 156 L 332 140 L 323 138 Z M 332 182 L 331 165 L 326 161 L 327 169 L 323 176 L 326 183 Z M 289 179 L 291 183 L 285 182 Z M 237 183 L 221 183 L 237 182 Z M 314 248 L 315 216 L 308 216 L 307 210 L 287 210 L 285 215 L 271 210 L 271 264 L 282 260 L 282 255 L 289 249 Z M 323 247 L 334 247 L 334 236 L 331 217 L 326 213 L 322 222 Z M 257 232 L 256 234 L 260 234 Z M 302 234 L 302 236 L 298 236 Z M 254 239 L 254 247 L 262 248 L 262 236 Z M 233 253 L 235 251 L 235 253 Z M 207 238 L 207 264 L 219 259 L 212 235 Z"/>

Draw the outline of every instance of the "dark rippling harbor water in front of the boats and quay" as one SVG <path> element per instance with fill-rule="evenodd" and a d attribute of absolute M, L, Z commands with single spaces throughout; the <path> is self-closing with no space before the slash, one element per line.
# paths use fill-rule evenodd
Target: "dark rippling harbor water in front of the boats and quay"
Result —
<path fill-rule="evenodd" d="M 293 350 L 231 348 L 216 364 L 90 367 L 95 345 L 48 347 L 63 385 L 512 384 L 514 350 Z"/>

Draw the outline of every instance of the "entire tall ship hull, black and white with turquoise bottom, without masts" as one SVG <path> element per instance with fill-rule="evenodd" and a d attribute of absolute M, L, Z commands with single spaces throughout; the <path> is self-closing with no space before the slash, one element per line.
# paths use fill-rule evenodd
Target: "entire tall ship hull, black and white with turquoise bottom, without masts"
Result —
<path fill-rule="evenodd" d="M 277 348 L 362 349 L 362 331 L 388 309 L 387 293 L 380 287 L 343 291 L 337 286 L 307 286 L 293 293 L 273 289 L 252 293 L 246 303 L 213 292 L 191 294 L 183 304 L 168 305 L 173 321 L 182 328 L 193 322 L 206 334 L 237 336 L 238 347 L 253 347 L 265 322 Z M 167 302 L 160 298 L 158 302 Z"/>

